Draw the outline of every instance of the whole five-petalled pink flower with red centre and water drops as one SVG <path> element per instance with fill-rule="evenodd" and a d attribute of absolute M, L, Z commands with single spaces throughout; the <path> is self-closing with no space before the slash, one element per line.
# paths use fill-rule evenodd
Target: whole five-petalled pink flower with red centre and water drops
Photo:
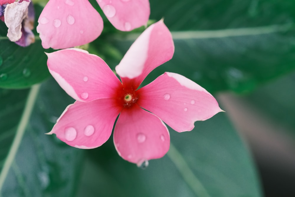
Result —
<path fill-rule="evenodd" d="M 109 139 L 129 162 L 163 157 L 170 137 L 165 124 L 178 132 L 191 131 L 195 121 L 222 111 L 204 88 L 176 73 L 164 73 L 138 89 L 143 79 L 174 53 L 171 33 L 159 21 L 132 44 L 116 67 L 122 83 L 98 56 L 81 49 L 47 54 L 48 69 L 77 101 L 69 105 L 52 131 L 70 146 L 92 149 Z"/>

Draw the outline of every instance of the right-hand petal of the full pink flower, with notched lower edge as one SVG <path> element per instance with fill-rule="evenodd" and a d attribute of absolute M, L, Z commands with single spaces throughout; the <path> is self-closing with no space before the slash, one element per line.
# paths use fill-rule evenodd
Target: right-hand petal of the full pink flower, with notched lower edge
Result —
<path fill-rule="evenodd" d="M 157 115 L 178 132 L 191 131 L 222 110 L 215 98 L 186 77 L 166 72 L 138 91 L 137 104 Z"/>

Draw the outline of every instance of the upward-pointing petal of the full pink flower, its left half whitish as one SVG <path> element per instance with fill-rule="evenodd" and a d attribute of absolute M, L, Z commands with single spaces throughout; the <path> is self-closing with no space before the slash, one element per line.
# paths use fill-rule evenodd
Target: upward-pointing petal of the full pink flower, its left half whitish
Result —
<path fill-rule="evenodd" d="M 156 67 L 170 60 L 174 53 L 172 35 L 163 20 L 148 27 L 131 45 L 116 66 L 124 86 L 137 89 L 143 79 Z"/>

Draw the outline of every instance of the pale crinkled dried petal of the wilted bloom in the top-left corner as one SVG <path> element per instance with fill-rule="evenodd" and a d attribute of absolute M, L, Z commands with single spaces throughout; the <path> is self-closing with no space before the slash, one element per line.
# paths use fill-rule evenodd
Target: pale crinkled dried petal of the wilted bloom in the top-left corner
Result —
<path fill-rule="evenodd" d="M 8 27 L 7 37 L 15 42 L 22 37 L 22 21 L 28 16 L 30 2 L 22 1 L 7 4 L 4 10 L 4 22 Z"/>

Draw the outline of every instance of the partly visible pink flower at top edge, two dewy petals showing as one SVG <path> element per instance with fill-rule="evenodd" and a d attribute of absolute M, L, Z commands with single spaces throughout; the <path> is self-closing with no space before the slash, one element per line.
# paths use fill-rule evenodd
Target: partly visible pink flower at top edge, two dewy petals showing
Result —
<path fill-rule="evenodd" d="M 109 21 L 121 31 L 145 25 L 148 0 L 97 0 Z M 43 48 L 70 48 L 90 43 L 102 32 L 103 21 L 88 0 L 50 0 L 38 19 Z"/>

